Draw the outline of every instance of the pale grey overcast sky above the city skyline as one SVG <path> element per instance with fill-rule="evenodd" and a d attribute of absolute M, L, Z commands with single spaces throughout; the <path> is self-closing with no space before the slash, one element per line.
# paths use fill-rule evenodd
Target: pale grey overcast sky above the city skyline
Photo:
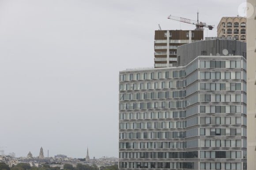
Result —
<path fill-rule="evenodd" d="M 154 30 L 218 25 L 245 0 L 0 0 L 0 147 L 118 156 L 118 73 L 154 66 Z M 216 29 L 204 36 L 216 36 Z M 1 148 L 0 148 L 1 150 Z"/>

